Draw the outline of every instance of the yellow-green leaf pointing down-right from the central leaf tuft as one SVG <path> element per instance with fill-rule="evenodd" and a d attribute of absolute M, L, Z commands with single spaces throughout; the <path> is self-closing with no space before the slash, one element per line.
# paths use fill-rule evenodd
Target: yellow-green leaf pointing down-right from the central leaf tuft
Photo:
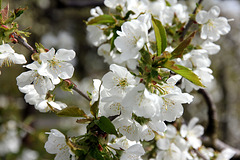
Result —
<path fill-rule="evenodd" d="M 200 78 L 191 69 L 187 67 L 177 65 L 174 61 L 167 61 L 163 64 L 163 67 L 168 68 L 177 74 L 180 74 L 195 85 L 205 87 L 200 81 Z"/>

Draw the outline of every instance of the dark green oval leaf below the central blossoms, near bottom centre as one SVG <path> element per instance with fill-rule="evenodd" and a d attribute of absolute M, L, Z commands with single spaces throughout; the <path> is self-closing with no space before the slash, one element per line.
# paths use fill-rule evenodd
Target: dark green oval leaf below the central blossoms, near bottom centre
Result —
<path fill-rule="evenodd" d="M 108 118 L 102 116 L 100 117 L 99 120 L 95 121 L 95 124 L 104 132 L 108 134 L 117 135 L 115 126 L 112 124 L 112 122 Z"/>

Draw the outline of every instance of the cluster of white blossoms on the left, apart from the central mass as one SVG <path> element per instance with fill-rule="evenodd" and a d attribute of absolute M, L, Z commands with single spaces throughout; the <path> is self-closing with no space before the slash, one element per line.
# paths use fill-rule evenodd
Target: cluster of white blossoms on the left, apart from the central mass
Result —
<path fill-rule="evenodd" d="M 61 82 L 61 79 L 69 79 L 73 76 L 74 68 L 67 61 L 75 57 L 73 50 L 55 49 L 42 52 L 38 61 L 27 64 L 24 67 L 30 71 L 23 72 L 17 77 L 17 85 L 21 92 L 25 93 L 25 101 L 34 105 L 40 112 L 47 112 L 52 108 L 61 110 L 66 108 L 62 102 L 54 102 L 54 98 L 48 94 Z"/>

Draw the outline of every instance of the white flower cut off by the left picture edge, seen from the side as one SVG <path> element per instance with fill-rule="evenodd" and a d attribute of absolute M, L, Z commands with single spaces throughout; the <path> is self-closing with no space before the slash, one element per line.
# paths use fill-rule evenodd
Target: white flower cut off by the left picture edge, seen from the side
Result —
<path fill-rule="evenodd" d="M 22 54 L 15 53 L 9 44 L 0 45 L 0 66 L 11 66 L 14 64 L 25 64 L 27 61 Z"/>

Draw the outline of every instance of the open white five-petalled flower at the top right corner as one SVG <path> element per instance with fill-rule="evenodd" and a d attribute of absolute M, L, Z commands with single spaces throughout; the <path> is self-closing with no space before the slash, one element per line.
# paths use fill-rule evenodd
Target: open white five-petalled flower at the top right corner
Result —
<path fill-rule="evenodd" d="M 220 8 L 213 6 L 208 12 L 200 11 L 196 15 L 196 21 L 202 24 L 201 38 L 217 41 L 220 35 L 227 34 L 231 27 L 225 17 L 218 17 Z"/>

